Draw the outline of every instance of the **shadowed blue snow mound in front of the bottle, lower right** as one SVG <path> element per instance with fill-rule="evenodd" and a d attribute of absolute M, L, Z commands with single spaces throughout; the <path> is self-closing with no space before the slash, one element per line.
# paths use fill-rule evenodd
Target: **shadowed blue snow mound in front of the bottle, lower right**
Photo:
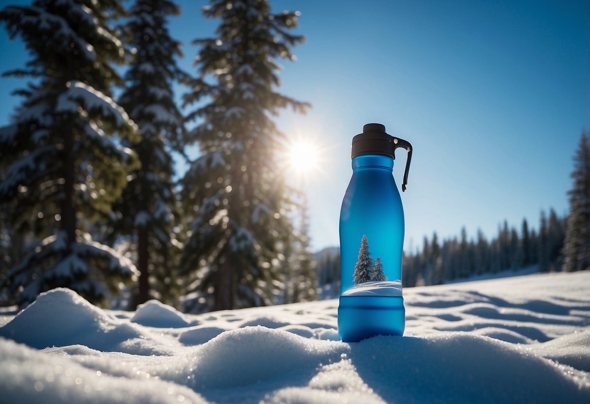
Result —
<path fill-rule="evenodd" d="M 357 373 L 385 402 L 587 402 L 590 377 L 469 333 L 378 336 L 350 344 Z M 576 374 L 574 377 L 569 377 Z M 577 376 L 577 377 L 576 377 Z M 466 382 L 468 377 L 468 382 Z"/>

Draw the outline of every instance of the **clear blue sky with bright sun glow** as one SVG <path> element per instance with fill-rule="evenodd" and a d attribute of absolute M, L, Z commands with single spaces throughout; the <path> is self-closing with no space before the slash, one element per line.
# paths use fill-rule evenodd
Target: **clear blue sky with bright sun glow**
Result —
<path fill-rule="evenodd" d="M 171 23 L 194 71 L 194 38 L 212 35 L 206 2 L 177 1 Z M 10 4 L 11 2 L 2 2 Z M 27 1 L 13 3 L 27 4 Z M 277 124 L 319 145 L 308 175 L 314 249 L 337 246 L 340 203 L 348 185 L 350 141 L 363 124 L 385 124 L 414 147 L 402 194 L 406 251 L 437 231 L 466 226 L 487 237 L 501 222 L 538 228 L 541 209 L 568 211 L 569 174 L 582 128 L 590 128 L 590 5 L 568 1 L 271 1 L 301 11 L 296 62 L 282 62 L 280 91 L 313 104 L 284 112 Z M 27 59 L 22 43 L 0 32 L 0 68 Z M 192 69 L 192 70 L 191 70 Z M 0 79 L 0 125 L 18 99 Z M 401 187 L 405 153 L 394 175 Z M 293 175 L 293 181 L 299 178 Z"/>

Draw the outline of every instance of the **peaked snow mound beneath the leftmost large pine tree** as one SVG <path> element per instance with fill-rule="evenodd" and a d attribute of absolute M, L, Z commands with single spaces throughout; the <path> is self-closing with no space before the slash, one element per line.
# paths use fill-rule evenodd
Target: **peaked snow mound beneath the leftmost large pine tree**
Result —
<path fill-rule="evenodd" d="M 112 350 L 141 337 L 132 324 L 114 320 L 70 289 L 41 293 L 35 302 L 0 328 L 0 336 L 42 349 L 81 344 Z"/>

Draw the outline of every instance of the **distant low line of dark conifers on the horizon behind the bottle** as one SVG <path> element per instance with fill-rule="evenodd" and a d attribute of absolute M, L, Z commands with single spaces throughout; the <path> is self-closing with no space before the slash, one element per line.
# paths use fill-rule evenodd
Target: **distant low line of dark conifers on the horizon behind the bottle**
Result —
<path fill-rule="evenodd" d="M 525 218 L 520 229 L 504 221 L 491 240 L 481 230 L 477 231 L 475 239 L 469 238 L 465 227 L 458 238 L 442 242 L 434 233 L 431 240 L 424 237 L 421 250 L 404 253 L 402 283 L 405 287 L 441 284 L 484 273 L 516 271 L 531 265 L 537 265 L 539 271 L 559 271 L 565 229 L 566 218 L 559 217 L 551 209 L 549 215 L 545 211 L 540 213 L 538 232 Z M 339 254 L 333 249 L 319 254 L 317 270 L 322 296 L 336 297 L 340 284 Z"/>

